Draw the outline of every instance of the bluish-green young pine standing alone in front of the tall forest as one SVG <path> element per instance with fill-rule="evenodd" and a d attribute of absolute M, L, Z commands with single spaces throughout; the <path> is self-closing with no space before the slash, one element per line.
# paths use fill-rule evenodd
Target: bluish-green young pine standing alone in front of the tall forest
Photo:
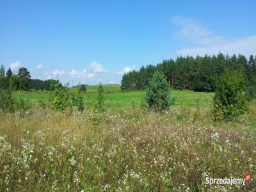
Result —
<path fill-rule="evenodd" d="M 170 85 L 164 78 L 163 73 L 155 72 L 150 79 L 145 100 L 148 107 L 157 111 L 168 110 L 171 104 Z"/>

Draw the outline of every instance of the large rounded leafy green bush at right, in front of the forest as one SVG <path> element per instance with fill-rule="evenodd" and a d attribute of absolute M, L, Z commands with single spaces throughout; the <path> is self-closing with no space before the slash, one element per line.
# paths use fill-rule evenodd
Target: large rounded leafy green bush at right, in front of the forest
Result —
<path fill-rule="evenodd" d="M 214 96 L 214 120 L 233 119 L 248 110 L 242 72 L 225 71 Z"/>

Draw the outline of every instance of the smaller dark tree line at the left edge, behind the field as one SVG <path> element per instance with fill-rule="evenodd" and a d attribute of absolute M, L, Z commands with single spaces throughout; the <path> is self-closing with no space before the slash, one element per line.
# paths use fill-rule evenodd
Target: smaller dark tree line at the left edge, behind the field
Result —
<path fill-rule="evenodd" d="M 8 68 L 7 72 L 4 70 L 4 66 L 0 67 L 0 88 L 10 90 L 53 90 L 54 84 L 58 83 L 58 80 L 49 79 L 42 81 L 40 79 L 31 79 L 30 72 L 27 68 L 19 68 L 18 74 L 13 74 L 11 68 Z"/>

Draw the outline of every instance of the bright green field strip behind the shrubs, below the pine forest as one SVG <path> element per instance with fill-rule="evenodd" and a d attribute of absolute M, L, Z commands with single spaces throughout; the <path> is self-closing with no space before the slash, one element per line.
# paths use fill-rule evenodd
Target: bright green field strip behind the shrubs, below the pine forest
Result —
<path fill-rule="evenodd" d="M 87 92 L 84 93 L 84 102 L 88 106 L 92 106 L 97 99 L 98 85 L 87 86 Z M 106 108 L 131 108 L 132 105 L 140 104 L 145 96 L 145 91 L 122 92 L 118 84 L 104 84 L 105 91 L 104 104 Z M 71 88 L 70 92 L 77 93 L 77 88 Z M 195 106 L 198 102 L 200 107 L 211 107 L 212 97 L 214 93 L 192 92 L 172 90 L 171 97 L 175 97 L 175 105 Z M 30 100 L 33 103 L 38 100 L 49 100 L 51 92 L 47 91 L 30 91 L 30 92 L 15 92 L 14 97 Z"/>

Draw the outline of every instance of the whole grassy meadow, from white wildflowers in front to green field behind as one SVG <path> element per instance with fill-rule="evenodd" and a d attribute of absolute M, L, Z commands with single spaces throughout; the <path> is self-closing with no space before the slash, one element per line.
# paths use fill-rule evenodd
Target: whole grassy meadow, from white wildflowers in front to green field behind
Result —
<path fill-rule="evenodd" d="M 105 110 L 88 86 L 83 113 L 52 111 L 50 92 L 15 92 L 31 108 L 0 116 L 0 191 L 255 191 L 255 100 L 236 121 L 213 122 L 214 93 L 172 90 L 175 104 L 155 113 L 140 106 L 145 92 L 104 89 Z M 244 186 L 205 183 L 245 174 Z"/>

